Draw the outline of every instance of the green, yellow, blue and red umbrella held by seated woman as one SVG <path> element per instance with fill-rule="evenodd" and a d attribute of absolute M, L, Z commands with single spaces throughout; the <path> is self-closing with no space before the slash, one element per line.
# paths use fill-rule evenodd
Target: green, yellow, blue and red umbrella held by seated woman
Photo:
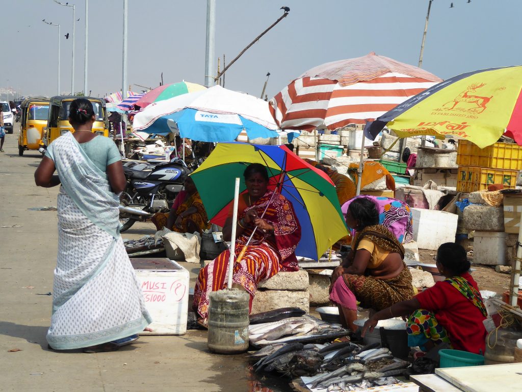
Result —
<path fill-rule="evenodd" d="M 294 207 L 301 225 L 296 255 L 318 260 L 325 250 L 348 234 L 333 182 L 323 171 L 284 146 L 246 143 L 216 146 L 191 174 L 212 223 L 224 225 L 234 202 L 235 178 L 241 178 L 240 192 L 245 192 L 243 171 L 252 163 L 266 166 L 269 189 L 277 187 Z"/>

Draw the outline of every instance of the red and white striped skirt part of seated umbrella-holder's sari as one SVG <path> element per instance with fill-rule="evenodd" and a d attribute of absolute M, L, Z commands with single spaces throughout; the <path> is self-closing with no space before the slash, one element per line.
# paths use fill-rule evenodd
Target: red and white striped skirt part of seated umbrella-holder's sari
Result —
<path fill-rule="evenodd" d="M 236 244 L 235 255 L 238 256 L 242 249 L 242 244 Z M 202 318 L 208 317 L 210 292 L 222 290 L 227 286 L 229 259 L 230 251 L 226 250 L 199 271 L 194 289 L 193 308 Z M 265 243 L 249 245 L 241 262 L 234 263 L 232 282 L 244 287 L 250 295 L 250 309 L 258 283 L 271 278 L 280 269 L 277 252 Z"/>

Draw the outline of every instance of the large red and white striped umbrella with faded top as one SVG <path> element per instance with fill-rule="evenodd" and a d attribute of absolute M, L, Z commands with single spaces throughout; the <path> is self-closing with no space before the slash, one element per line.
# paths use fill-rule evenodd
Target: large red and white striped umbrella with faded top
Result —
<path fill-rule="evenodd" d="M 335 130 L 364 124 L 442 79 L 421 68 L 370 53 L 305 72 L 270 100 L 282 129 Z"/>

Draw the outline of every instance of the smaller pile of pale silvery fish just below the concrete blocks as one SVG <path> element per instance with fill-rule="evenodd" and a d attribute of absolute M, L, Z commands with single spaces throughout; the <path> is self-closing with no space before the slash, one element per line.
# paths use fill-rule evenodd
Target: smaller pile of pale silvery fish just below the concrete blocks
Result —
<path fill-rule="evenodd" d="M 263 347 L 272 343 L 283 343 L 322 338 L 328 335 L 348 335 L 349 330 L 340 324 L 329 324 L 310 315 L 289 317 L 284 320 L 265 322 L 248 327 L 248 339 L 254 345 Z"/>

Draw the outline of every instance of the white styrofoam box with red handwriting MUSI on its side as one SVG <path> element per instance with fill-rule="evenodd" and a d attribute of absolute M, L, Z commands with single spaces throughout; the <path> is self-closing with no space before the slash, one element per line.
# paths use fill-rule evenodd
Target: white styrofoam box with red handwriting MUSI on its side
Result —
<path fill-rule="evenodd" d="M 145 304 L 152 317 L 152 332 L 140 335 L 184 335 L 187 330 L 189 273 L 167 258 L 131 259 Z"/>

